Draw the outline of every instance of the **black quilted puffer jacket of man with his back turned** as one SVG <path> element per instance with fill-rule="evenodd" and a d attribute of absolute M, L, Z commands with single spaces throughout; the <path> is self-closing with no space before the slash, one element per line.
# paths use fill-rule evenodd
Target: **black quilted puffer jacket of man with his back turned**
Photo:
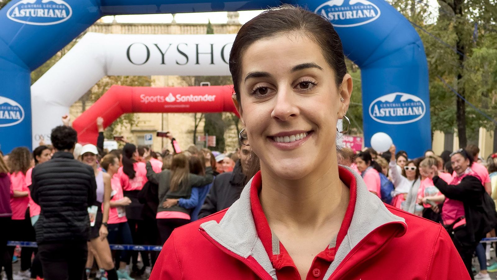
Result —
<path fill-rule="evenodd" d="M 86 242 L 88 205 L 96 200 L 95 174 L 70 152 L 58 151 L 33 168 L 31 196 L 40 205 L 35 224 L 36 242 Z"/>

